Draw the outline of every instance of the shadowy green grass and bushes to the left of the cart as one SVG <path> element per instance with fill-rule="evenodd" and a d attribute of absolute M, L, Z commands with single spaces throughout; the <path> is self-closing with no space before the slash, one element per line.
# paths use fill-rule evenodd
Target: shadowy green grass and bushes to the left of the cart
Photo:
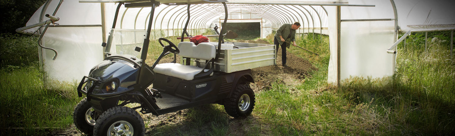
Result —
<path fill-rule="evenodd" d="M 2 135 L 47 135 L 72 124 L 81 100 L 73 83 L 45 78 L 38 66 L 36 37 L 2 34 L 0 42 L 0 132 Z"/>

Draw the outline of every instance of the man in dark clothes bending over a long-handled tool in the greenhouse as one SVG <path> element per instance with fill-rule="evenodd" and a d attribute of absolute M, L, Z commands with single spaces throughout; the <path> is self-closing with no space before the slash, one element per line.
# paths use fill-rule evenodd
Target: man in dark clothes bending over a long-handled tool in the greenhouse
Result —
<path fill-rule="evenodd" d="M 294 24 L 283 24 L 275 34 L 275 39 L 273 40 L 273 44 L 277 45 L 277 53 L 278 47 L 281 44 L 281 61 L 283 62 L 283 67 L 286 67 L 286 47 L 289 48 L 289 44 L 284 42 L 288 41 L 289 43 L 292 41 L 293 46 L 297 46 L 295 44 L 295 30 L 300 27 L 300 23 L 295 22 Z"/>

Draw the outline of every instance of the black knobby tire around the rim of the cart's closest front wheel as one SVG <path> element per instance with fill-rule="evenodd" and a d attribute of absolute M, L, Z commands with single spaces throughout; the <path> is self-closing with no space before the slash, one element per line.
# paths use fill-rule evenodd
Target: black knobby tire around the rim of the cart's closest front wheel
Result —
<path fill-rule="evenodd" d="M 144 136 L 145 127 L 142 117 L 130 107 L 112 107 L 103 112 L 96 120 L 93 134 L 95 136 L 106 136 L 109 127 L 117 121 L 126 121 L 131 124 L 133 136 Z"/>

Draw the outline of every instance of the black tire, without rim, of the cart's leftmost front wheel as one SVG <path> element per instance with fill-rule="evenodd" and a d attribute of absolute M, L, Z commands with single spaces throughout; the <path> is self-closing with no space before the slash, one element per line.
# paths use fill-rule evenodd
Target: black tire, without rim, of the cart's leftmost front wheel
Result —
<path fill-rule="evenodd" d="M 77 104 L 73 112 L 74 125 L 82 133 L 91 136 L 93 134 L 93 126 L 86 121 L 86 112 L 91 108 L 90 103 L 87 102 L 87 98 L 84 98 Z"/>

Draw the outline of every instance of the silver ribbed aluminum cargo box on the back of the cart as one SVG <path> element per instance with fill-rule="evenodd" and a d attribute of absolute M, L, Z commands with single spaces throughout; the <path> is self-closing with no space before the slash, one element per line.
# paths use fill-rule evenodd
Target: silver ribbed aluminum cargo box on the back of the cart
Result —
<path fill-rule="evenodd" d="M 220 57 L 215 62 L 216 71 L 231 73 L 276 64 L 277 54 L 273 44 L 225 43 L 234 44 L 238 49 L 221 49 Z M 181 59 L 185 64 L 185 59 Z M 203 67 L 205 60 L 191 58 L 190 65 Z"/>

